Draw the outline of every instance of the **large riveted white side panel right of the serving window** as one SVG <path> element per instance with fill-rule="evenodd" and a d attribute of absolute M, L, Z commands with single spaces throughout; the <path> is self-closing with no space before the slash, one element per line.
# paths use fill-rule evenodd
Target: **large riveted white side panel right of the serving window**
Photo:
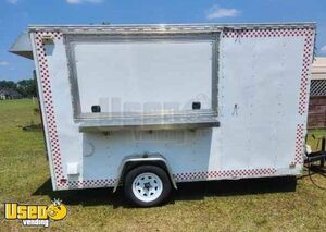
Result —
<path fill-rule="evenodd" d="M 224 38 L 223 166 L 288 167 L 296 154 L 304 37 Z"/>

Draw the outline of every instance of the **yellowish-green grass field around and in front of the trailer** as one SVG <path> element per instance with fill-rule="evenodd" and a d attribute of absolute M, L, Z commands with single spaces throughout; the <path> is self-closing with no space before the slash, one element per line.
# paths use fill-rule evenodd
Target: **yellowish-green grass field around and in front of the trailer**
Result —
<path fill-rule="evenodd" d="M 181 184 L 162 207 L 138 209 L 110 190 L 52 192 L 41 132 L 21 126 L 39 123 L 32 100 L 0 101 L 0 202 L 49 204 L 60 197 L 68 207 L 54 231 L 326 231 L 326 191 L 309 178 L 220 181 Z M 316 130 L 316 137 L 325 131 Z M 316 141 L 310 136 L 310 143 Z M 326 179 L 313 179 L 326 186 Z M 22 229 L 3 220 L 0 231 Z M 38 229 L 40 230 L 40 229 Z"/>

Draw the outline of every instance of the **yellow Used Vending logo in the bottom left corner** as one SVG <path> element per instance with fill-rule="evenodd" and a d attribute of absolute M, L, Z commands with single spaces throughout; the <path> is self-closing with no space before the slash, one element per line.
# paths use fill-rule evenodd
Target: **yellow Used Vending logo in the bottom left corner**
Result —
<path fill-rule="evenodd" d="M 4 218 L 7 220 L 22 220 L 23 227 L 46 227 L 53 221 L 62 220 L 67 215 L 67 208 L 60 199 L 50 205 L 20 205 L 17 203 L 4 204 Z"/>

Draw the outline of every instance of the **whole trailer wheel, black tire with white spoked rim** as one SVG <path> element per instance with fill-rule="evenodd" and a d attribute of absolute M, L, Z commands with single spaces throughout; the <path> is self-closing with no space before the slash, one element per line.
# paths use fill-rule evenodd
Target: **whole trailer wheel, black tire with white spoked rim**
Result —
<path fill-rule="evenodd" d="M 133 204 L 150 207 L 167 198 L 171 182 L 163 169 L 155 166 L 140 166 L 126 174 L 124 191 Z"/>

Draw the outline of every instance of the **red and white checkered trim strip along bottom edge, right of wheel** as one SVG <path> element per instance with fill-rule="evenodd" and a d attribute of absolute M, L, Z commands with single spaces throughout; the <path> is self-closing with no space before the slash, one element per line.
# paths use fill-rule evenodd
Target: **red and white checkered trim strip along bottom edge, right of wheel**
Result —
<path fill-rule="evenodd" d="M 190 180 L 209 180 L 217 178 L 237 179 L 246 176 L 265 176 L 276 173 L 276 169 L 240 169 L 240 170 L 221 170 L 208 172 L 188 172 L 174 174 L 176 181 L 190 181 Z"/>

